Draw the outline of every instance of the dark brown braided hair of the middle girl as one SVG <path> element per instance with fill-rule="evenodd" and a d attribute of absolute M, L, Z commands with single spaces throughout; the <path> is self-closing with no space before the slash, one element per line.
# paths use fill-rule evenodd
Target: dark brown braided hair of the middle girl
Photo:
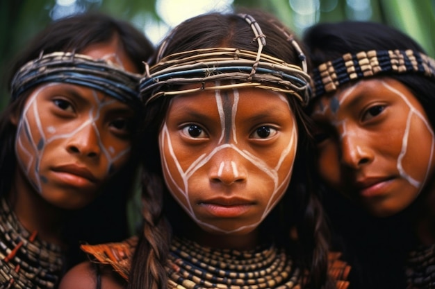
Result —
<path fill-rule="evenodd" d="M 277 26 L 271 24 L 271 21 L 274 21 L 274 24 L 279 24 L 279 21 L 271 15 L 256 10 L 240 12 L 252 15 L 261 26 L 268 42 L 263 53 L 300 66 L 301 61 L 294 46 L 286 42 L 286 38 Z M 252 28 L 236 14 L 201 15 L 184 21 L 174 31 L 170 35 L 162 57 L 181 51 L 213 47 L 234 47 L 249 51 L 258 49 L 256 42 L 252 41 L 254 38 Z M 146 98 L 147 96 L 144 101 Z M 288 100 L 296 114 L 299 131 L 294 175 L 284 198 L 260 225 L 260 229 L 267 232 L 261 235 L 270 234 L 279 246 L 288 250 L 297 265 L 309 270 L 307 283 L 311 288 L 334 288 L 334 284 L 329 282 L 327 277 L 328 242 L 322 209 L 320 202 L 312 193 L 315 188 L 307 185 L 309 154 L 305 150 L 309 150 L 311 145 L 305 128 L 306 116 L 294 96 L 289 96 Z M 168 105 L 169 100 L 165 97 L 158 98 L 147 105 L 146 130 L 143 136 L 145 138 L 143 140 L 145 170 L 142 177 L 142 182 L 145 184 L 142 191 L 144 224 L 131 264 L 127 286 L 129 289 L 167 287 L 164 265 L 170 246 L 170 236 L 181 234 L 189 218 L 163 185 L 158 134 Z M 292 228 L 297 231 L 296 240 L 290 238 Z"/>

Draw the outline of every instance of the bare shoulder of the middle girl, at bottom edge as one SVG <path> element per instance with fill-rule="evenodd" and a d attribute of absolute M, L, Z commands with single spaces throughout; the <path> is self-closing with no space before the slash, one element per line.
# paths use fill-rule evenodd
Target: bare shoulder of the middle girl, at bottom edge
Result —
<path fill-rule="evenodd" d="M 70 269 L 60 280 L 58 289 L 122 289 L 125 285 L 113 270 L 102 267 L 97 272 L 97 266 L 86 261 Z"/>

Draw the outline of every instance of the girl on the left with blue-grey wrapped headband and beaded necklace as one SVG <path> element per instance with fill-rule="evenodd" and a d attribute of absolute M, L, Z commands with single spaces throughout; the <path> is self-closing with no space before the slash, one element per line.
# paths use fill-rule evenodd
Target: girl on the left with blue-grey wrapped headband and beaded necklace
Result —
<path fill-rule="evenodd" d="M 54 288 L 79 241 L 128 236 L 152 52 L 131 24 L 87 14 L 54 22 L 17 58 L 0 119 L 1 288 Z"/>

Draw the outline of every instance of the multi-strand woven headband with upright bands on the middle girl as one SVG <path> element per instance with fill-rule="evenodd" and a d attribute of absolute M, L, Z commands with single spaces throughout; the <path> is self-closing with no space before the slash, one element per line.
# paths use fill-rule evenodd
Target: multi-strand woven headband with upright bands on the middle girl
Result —
<path fill-rule="evenodd" d="M 286 35 L 299 53 L 302 68 L 288 64 L 284 60 L 261 53 L 265 46 L 265 35 L 260 26 L 250 15 L 239 15 L 251 26 L 258 51 L 246 51 L 235 48 L 196 49 L 173 53 L 161 59 L 167 46 L 163 42 L 158 51 L 157 61 L 153 67 L 146 65 L 145 77 L 140 80 L 140 94 L 151 94 L 147 103 L 161 96 L 188 94 L 195 91 L 213 89 L 231 89 L 236 87 L 258 87 L 292 94 L 306 104 L 311 97 L 311 78 L 306 73 L 306 60 L 299 45 L 293 37 Z M 170 40 L 171 37 L 167 37 Z M 236 80 L 228 84 L 205 86 L 205 82 L 219 80 Z M 201 87 L 192 89 L 170 90 L 170 85 L 188 85 L 201 83 Z M 165 89 L 162 89 L 167 85 Z"/>

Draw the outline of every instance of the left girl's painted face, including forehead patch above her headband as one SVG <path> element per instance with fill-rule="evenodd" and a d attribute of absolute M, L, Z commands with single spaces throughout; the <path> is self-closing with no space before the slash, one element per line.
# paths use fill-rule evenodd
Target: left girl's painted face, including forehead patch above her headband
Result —
<path fill-rule="evenodd" d="M 82 53 L 136 72 L 117 44 L 98 44 Z M 85 206 L 129 159 L 133 116 L 130 107 L 99 90 L 60 82 L 40 85 L 17 123 L 17 177 L 56 207 Z"/>

